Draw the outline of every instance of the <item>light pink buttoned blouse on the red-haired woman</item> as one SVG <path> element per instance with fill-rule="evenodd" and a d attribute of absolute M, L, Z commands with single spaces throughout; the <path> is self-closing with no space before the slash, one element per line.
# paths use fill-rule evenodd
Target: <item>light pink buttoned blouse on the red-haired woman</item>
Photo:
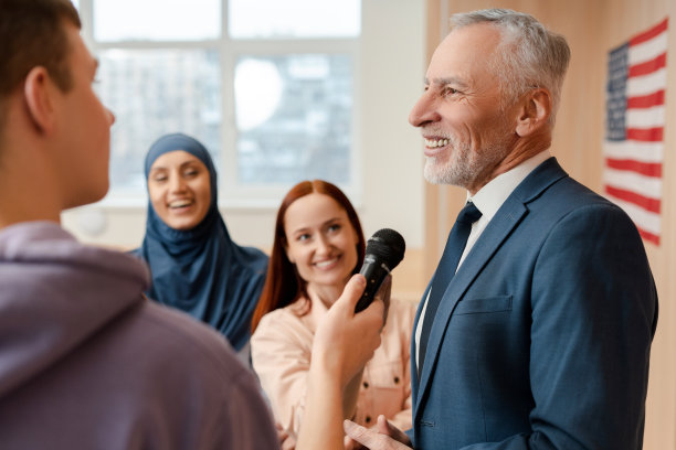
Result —
<path fill-rule="evenodd" d="M 313 338 L 327 308 L 313 301 L 310 311 L 297 315 L 300 302 L 263 317 L 251 338 L 253 367 L 270 399 L 275 419 L 297 435 L 305 408 Z M 356 422 L 366 427 L 383 414 L 402 430 L 411 428 L 411 331 L 416 304 L 392 299 L 380 346 L 367 363 Z"/>

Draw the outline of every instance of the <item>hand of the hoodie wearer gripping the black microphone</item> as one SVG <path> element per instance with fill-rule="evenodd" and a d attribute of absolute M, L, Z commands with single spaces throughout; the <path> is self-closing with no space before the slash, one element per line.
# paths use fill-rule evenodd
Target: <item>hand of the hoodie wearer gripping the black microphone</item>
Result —
<path fill-rule="evenodd" d="M 319 321 L 313 341 L 310 372 L 319 371 L 338 381 L 340 389 L 373 356 L 380 345 L 384 306 L 376 299 L 366 310 L 355 313 L 366 279 L 357 274 L 342 294 Z"/>

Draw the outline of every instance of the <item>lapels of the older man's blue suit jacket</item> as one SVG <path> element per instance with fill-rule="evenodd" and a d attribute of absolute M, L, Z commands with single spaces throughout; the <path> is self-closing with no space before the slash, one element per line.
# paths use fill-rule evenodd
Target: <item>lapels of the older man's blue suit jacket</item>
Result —
<path fill-rule="evenodd" d="M 495 255 L 498 248 L 507 239 L 511 231 L 519 224 L 522 217 L 528 214 L 527 203 L 539 196 L 551 184 L 567 175 L 568 174 L 561 169 L 554 158 L 548 159 L 534 170 L 498 210 L 497 214 L 493 217 L 486 229 L 484 229 L 448 283 L 444 298 L 436 310 L 432 330 L 430 331 L 425 364 L 420 375 L 420 379 L 416 374 L 414 374 L 414 372 L 416 372 L 415 365 L 412 365 L 411 376 L 413 383 L 414 420 L 419 419 L 421 411 L 420 403 L 429 389 L 430 379 L 436 366 L 441 342 L 457 302 L 465 294 L 465 291 L 480 272 L 482 268 L 488 264 L 493 255 Z M 420 309 L 421 308 L 419 308 L 418 315 L 420 315 Z M 420 319 L 416 319 L 415 323 L 418 323 L 419 320 Z M 413 355 L 412 361 L 415 361 L 413 360 L 415 357 L 415 349 L 413 347 L 411 355 Z"/>

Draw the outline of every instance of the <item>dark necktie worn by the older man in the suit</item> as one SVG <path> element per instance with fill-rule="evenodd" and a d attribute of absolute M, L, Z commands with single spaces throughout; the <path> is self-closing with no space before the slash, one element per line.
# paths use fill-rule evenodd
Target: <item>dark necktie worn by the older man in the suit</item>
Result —
<path fill-rule="evenodd" d="M 448 240 L 446 242 L 446 248 L 442 255 L 434 279 L 432 280 L 432 290 L 430 291 L 430 298 L 427 299 L 427 308 L 425 310 L 425 317 L 423 320 L 423 329 L 420 334 L 420 345 L 418 349 L 418 373 L 422 373 L 423 362 L 425 361 L 425 351 L 427 350 L 427 340 L 430 339 L 430 331 L 432 330 L 432 323 L 434 322 L 434 314 L 441 303 L 446 287 L 453 279 L 455 270 L 457 269 L 457 262 L 460 261 L 465 245 L 467 245 L 467 237 L 469 237 L 469 231 L 472 224 L 479 219 L 482 212 L 474 206 L 474 203 L 467 202 L 465 207 L 460 212 L 455 219 L 455 225 L 448 234 Z"/>

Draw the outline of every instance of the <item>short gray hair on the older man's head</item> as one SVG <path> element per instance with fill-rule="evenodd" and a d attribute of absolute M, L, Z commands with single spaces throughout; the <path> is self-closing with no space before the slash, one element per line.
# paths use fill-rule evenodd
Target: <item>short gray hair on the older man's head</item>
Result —
<path fill-rule="evenodd" d="M 566 38 L 547 30 L 532 15 L 508 9 L 486 9 L 451 17 L 452 30 L 476 23 L 490 23 L 501 33 L 501 49 L 496 51 L 492 62 L 499 77 L 501 106 L 534 87 L 543 87 L 552 96 L 549 121 L 553 126 L 570 61 Z"/>

